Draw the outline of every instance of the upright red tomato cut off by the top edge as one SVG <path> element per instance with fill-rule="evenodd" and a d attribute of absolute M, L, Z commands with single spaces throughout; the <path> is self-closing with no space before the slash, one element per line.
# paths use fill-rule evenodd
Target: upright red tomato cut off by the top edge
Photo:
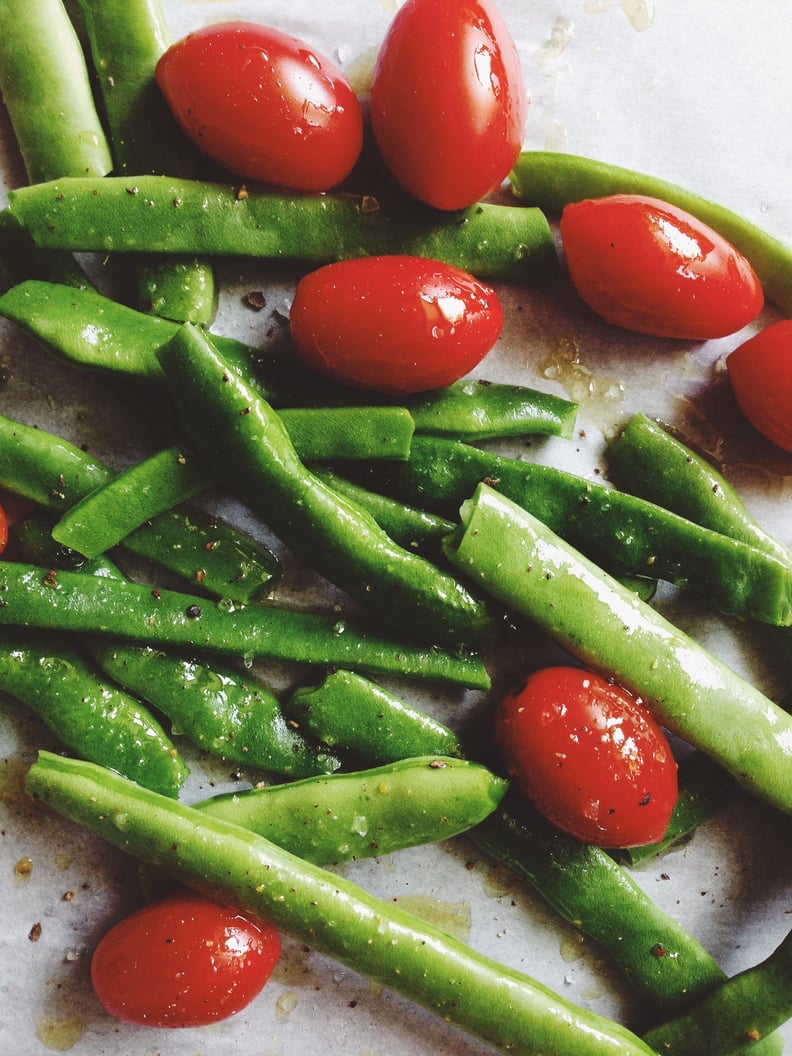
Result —
<path fill-rule="evenodd" d="M 408 191 L 461 209 L 499 187 L 525 135 L 528 98 L 492 0 L 407 0 L 372 82 L 372 127 Z"/>

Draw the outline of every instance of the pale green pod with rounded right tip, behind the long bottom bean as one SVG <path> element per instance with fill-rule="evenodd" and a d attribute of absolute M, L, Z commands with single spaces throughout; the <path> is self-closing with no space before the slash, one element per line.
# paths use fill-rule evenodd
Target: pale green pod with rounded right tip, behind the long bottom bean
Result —
<path fill-rule="evenodd" d="M 195 807 L 328 865 L 450 840 L 491 814 L 506 788 L 487 767 L 430 755 L 228 792 Z"/>

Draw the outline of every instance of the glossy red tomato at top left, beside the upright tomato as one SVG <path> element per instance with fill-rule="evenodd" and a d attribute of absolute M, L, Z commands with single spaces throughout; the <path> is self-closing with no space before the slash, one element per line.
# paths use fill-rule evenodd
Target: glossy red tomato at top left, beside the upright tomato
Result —
<path fill-rule="evenodd" d="M 190 33 L 156 79 L 187 135 L 237 175 L 304 191 L 351 172 L 363 118 L 352 86 L 296 37 L 252 22 Z"/>

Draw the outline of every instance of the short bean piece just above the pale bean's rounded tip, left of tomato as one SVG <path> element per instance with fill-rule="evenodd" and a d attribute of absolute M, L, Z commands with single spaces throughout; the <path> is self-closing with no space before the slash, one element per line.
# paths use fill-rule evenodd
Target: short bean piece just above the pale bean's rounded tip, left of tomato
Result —
<path fill-rule="evenodd" d="M 300 686 L 284 710 L 328 748 L 367 766 L 461 754 L 452 730 L 356 672 L 334 671 L 319 685 Z"/>

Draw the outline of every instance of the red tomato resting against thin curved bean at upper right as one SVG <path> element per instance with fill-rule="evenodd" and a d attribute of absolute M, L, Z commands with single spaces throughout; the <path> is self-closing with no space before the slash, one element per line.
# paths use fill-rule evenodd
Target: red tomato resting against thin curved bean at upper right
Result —
<path fill-rule="evenodd" d="M 566 206 L 561 235 L 572 282 L 607 322 L 656 337 L 705 340 L 761 312 L 746 258 L 676 206 L 614 194 Z"/>

